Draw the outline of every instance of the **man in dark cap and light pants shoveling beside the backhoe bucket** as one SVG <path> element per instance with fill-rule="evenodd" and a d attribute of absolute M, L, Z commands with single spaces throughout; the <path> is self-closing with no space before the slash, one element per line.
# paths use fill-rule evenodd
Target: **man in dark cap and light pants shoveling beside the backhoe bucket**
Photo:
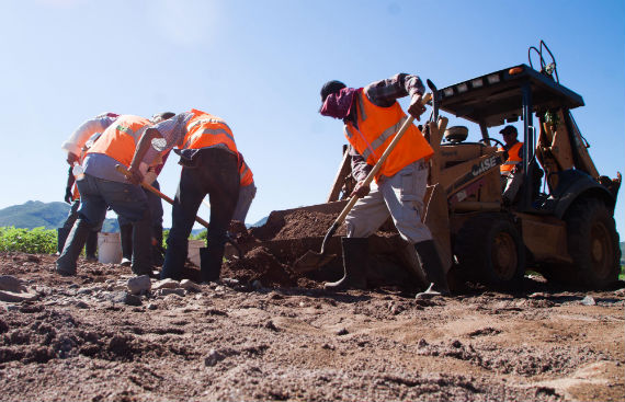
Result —
<path fill-rule="evenodd" d="M 366 288 L 367 238 L 390 215 L 401 238 L 414 244 L 421 268 L 432 284 L 428 294 L 450 292 L 432 233 L 421 221 L 428 160 L 433 154 L 421 131 L 410 125 L 382 165 L 375 183 L 363 184 L 406 119 L 397 99 L 409 95 L 408 113 L 419 119 L 425 111 L 421 104 L 423 93 L 421 79 L 406 73 L 364 89 L 346 88 L 340 81 L 329 81 L 321 88 L 320 114 L 344 123 L 351 145 L 352 174 L 357 181 L 352 196 L 360 197 L 345 218 L 348 236 L 341 239 L 344 275 L 338 282 L 325 284 L 327 289 Z"/>

